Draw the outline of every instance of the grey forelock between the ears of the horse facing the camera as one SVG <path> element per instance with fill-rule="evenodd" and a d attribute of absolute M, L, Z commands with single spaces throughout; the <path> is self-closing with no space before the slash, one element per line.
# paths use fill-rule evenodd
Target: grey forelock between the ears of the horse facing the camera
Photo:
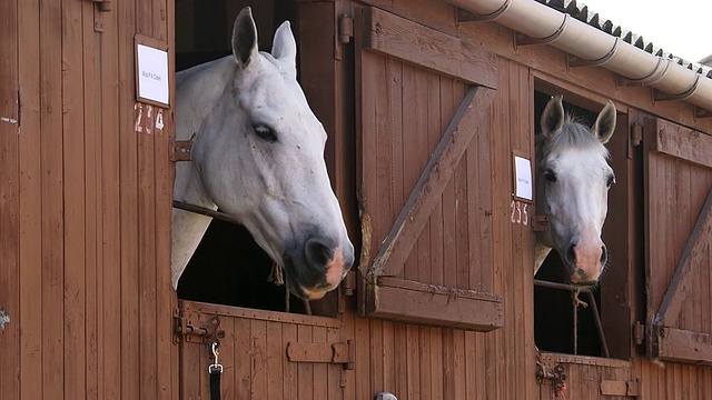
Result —
<path fill-rule="evenodd" d="M 609 149 L 582 122 L 581 119 L 566 114 L 558 134 L 547 137 L 543 133 L 537 133 L 534 141 L 537 159 L 544 160 L 552 152 L 564 149 L 580 149 L 596 151 L 607 160 L 610 158 Z"/>

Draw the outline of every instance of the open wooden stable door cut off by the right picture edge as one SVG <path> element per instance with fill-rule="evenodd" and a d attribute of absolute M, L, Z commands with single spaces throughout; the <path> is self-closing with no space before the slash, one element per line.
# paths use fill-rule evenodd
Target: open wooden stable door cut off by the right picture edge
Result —
<path fill-rule="evenodd" d="M 646 119 L 647 353 L 712 363 L 712 138 Z"/>

